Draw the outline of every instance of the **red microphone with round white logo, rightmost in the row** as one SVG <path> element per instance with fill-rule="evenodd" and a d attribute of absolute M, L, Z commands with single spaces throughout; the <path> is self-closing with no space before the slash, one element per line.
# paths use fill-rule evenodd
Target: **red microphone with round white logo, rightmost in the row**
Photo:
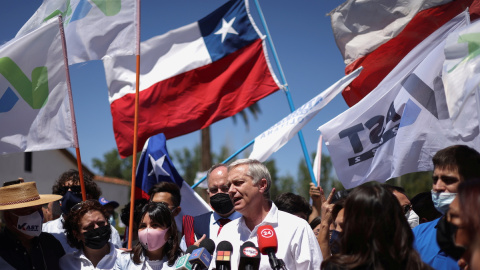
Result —
<path fill-rule="evenodd" d="M 277 259 L 275 253 L 277 253 L 278 240 L 277 234 L 272 225 L 260 226 L 257 230 L 258 247 L 263 255 L 268 255 L 268 261 L 272 269 L 285 269 L 285 263 L 282 260 Z"/>

